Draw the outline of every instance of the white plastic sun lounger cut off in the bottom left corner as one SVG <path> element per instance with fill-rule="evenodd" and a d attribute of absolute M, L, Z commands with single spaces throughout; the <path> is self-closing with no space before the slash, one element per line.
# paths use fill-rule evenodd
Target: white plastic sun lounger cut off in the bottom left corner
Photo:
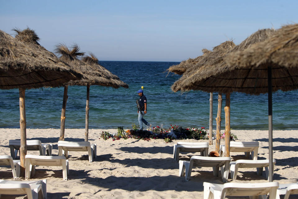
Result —
<path fill-rule="evenodd" d="M 28 199 L 47 198 L 47 180 L 8 181 L 0 180 L 0 195 L 27 195 Z"/>

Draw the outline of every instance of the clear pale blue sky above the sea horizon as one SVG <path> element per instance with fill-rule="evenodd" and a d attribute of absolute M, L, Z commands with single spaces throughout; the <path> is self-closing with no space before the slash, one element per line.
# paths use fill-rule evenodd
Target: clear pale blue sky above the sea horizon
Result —
<path fill-rule="evenodd" d="M 181 62 L 203 48 L 298 23 L 298 1 L 0 0 L 0 30 L 35 30 L 53 51 L 78 44 L 101 61 Z"/>

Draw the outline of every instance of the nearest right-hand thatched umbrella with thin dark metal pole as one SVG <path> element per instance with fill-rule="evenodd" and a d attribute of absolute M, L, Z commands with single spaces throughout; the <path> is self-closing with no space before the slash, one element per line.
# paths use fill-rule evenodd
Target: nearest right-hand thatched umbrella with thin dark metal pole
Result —
<path fill-rule="evenodd" d="M 269 39 L 251 45 L 240 52 L 229 53 L 224 59 L 234 74 L 234 83 L 228 83 L 227 73 L 223 86 L 234 86 L 233 90 L 249 94 L 268 92 L 269 129 L 269 181 L 273 181 L 272 150 L 272 91 L 298 89 L 298 24 L 286 25 Z"/>

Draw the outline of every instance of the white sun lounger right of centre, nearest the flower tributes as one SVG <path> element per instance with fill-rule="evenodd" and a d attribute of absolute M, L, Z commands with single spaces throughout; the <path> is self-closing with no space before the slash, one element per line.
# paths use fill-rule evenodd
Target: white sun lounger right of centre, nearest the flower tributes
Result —
<path fill-rule="evenodd" d="M 174 161 L 178 162 L 179 152 L 201 152 L 201 156 L 208 156 L 208 149 L 208 142 L 177 142 L 177 144 L 174 145 Z"/>

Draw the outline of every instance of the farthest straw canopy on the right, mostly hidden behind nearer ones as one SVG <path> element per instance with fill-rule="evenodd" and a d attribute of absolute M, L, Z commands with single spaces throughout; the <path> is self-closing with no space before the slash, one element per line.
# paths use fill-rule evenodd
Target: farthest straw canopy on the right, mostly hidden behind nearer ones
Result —
<path fill-rule="evenodd" d="M 200 70 L 201 67 L 208 64 L 209 62 L 212 62 L 217 57 L 222 56 L 224 53 L 228 52 L 234 47 L 235 47 L 235 44 L 233 41 L 225 41 L 224 43 L 221 43 L 218 46 L 215 46 L 212 52 L 206 54 L 205 56 L 202 56 L 201 60 L 198 63 L 188 68 L 187 71 L 183 73 L 183 76 L 174 82 L 174 84 L 172 85 L 172 90 L 174 92 L 177 92 L 178 90 L 187 90 L 187 89 L 182 89 L 182 85 L 184 85 L 184 82 L 186 79 L 196 80 L 197 78 L 196 73 L 198 70 Z M 213 92 L 213 91 L 210 91 L 210 92 Z"/>

